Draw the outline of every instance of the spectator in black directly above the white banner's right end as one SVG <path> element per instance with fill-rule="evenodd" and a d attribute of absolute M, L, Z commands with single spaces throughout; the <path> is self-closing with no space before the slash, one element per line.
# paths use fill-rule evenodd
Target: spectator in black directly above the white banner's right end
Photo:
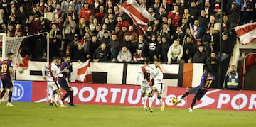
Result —
<path fill-rule="evenodd" d="M 204 50 L 203 45 L 198 45 L 198 50 L 196 51 L 196 53 L 193 56 L 193 63 L 206 63 L 206 50 Z"/>

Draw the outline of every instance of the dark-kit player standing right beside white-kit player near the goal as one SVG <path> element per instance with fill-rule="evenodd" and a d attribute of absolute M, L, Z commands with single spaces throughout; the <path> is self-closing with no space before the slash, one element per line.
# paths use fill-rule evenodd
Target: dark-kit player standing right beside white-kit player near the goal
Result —
<path fill-rule="evenodd" d="M 72 72 L 72 66 L 70 66 L 70 56 L 64 56 L 63 59 L 64 59 L 64 62 L 60 66 L 60 71 L 67 69 L 68 72 L 63 72 L 63 77 L 60 77 L 58 79 L 58 83 L 60 84 L 60 87 L 66 91 L 61 101 L 64 101 L 68 97 L 68 106 L 75 106 L 73 104 L 73 89 L 72 87 L 70 87 L 70 84 L 67 82 L 70 79 L 69 73 Z"/>

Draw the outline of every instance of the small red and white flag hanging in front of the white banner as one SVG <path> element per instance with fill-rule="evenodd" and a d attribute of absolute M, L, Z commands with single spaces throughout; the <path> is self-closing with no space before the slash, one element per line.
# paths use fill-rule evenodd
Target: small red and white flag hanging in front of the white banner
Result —
<path fill-rule="evenodd" d="M 92 72 L 90 71 L 90 60 L 82 63 L 80 67 L 78 67 L 77 76 L 75 77 L 75 82 L 84 82 L 84 83 L 92 83 Z"/>

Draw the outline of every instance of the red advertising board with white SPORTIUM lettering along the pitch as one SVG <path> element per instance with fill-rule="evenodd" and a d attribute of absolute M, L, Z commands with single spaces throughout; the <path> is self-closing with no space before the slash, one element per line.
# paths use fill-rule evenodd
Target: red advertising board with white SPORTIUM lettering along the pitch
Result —
<path fill-rule="evenodd" d="M 98 104 L 116 106 L 141 106 L 140 86 L 118 84 L 79 84 L 71 83 L 74 89 L 74 104 Z M 46 101 L 46 82 L 33 82 L 32 101 Z M 194 95 L 188 95 L 181 104 L 171 104 L 171 96 L 178 99 L 187 91 L 186 88 L 168 87 L 167 96 L 163 99 L 166 107 L 189 108 Z M 65 92 L 63 92 L 65 93 Z M 224 109 L 256 111 L 256 94 L 252 91 L 209 90 L 194 109 Z M 156 94 L 153 95 L 154 108 L 160 107 Z"/>

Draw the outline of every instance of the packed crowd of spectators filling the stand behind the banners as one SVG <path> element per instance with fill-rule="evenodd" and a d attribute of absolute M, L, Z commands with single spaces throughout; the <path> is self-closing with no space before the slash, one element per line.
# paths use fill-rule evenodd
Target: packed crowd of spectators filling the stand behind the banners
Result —
<path fill-rule="evenodd" d="M 124 1 L 1 0 L 0 31 L 11 37 L 48 32 L 50 57 L 70 55 L 76 62 L 143 62 L 149 57 L 218 66 L 233 50 L 228 31 L 256 21 L 252 0 L 139 0 L 155 18 L 143 31 L 119 8 Z M 46 34 L 26 38 L 21 55 L 26 54 L 32 60 L 45 58 Z"/>

